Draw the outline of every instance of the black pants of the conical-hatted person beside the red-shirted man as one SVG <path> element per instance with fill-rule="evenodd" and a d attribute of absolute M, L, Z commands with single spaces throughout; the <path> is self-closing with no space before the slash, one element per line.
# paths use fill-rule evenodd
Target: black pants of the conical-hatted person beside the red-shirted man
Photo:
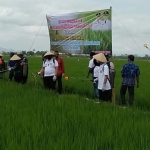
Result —
<path fill-rule="evenodd" d="M 48 90 L 50 90 L 50 89 L 55 90 L 55 82 L 56 81 L 53 81 L 53 76 L 44 77 L 43 81 L 44 81 L 44 87 L 46 89 L 48 89 Z"/>

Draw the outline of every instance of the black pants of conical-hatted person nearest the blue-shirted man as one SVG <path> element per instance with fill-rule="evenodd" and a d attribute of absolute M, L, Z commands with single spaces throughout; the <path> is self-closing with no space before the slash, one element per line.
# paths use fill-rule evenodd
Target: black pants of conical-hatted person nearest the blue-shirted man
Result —
<path fill-rule="evenodd" d="M 102 101 L 107 101 L 107 102 L 111 102 L 111 97 L 112 97 L 112 90 L 106 90 L 106 91 L 102 91 L 99 90 L 99 99 Z"/>

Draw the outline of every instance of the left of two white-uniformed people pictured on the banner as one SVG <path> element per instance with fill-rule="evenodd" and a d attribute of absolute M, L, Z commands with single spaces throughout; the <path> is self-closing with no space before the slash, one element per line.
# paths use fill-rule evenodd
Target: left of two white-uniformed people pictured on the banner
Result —
<path fill-rule="evenodd" d="M 92 23 L 92 30 L 93 31 L 98 31 L 102 29 L 102 20 L 100 20 L 100 13 L 96 14 L 96 20 L 93 21 Z"/>

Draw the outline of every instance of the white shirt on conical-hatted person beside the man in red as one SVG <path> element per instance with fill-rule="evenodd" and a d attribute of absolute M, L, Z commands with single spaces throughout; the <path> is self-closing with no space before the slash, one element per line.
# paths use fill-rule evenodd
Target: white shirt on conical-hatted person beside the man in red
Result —
<path fill-rule="evenodd" d="M 55 63 L 54 63 L 55 61 Z M 43 62 L 43 67 L 45 68 L 44 70 L 44 77 L 49 77 L 49 76 L 54 76 L 55 75 L 55 71 L 56 71 L 56 67 L 58 67 L 58 62 L 56 60 L 51 59 L 48 60 L 46 59 Z"/>

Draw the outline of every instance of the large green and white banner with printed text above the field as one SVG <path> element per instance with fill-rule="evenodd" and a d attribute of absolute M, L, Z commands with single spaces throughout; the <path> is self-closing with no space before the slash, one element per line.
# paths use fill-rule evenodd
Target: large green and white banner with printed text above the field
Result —
<path fill-rule="evenodd" d="M 112 54 L 111 9 L 46 16 L 51 50 L 70 54 Z"/>

